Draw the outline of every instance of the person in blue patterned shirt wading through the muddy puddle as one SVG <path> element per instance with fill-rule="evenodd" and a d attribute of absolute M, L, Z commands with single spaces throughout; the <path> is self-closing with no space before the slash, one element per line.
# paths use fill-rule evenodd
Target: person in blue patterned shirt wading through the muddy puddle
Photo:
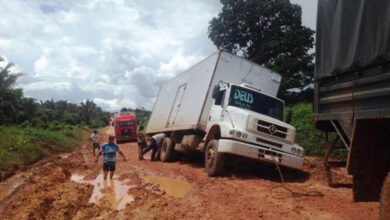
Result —
<path fill-rule="evenodd" d="M 110 179 L 114 176 L 115 165 L 116 165 L 116 153 L 119 153 L 123 160 L 126 161 L 125 155 L 119 149 L 119 146 L 114 142 L 115 137 L 110 135 L 108 137 L 108 143 L 104 144 L 96 157 L 95 163 L 99 160 L 100 155 L 103 154 L 103 173 L 104 179 L 107 179 L 108 173 L 110 173 Z"/>

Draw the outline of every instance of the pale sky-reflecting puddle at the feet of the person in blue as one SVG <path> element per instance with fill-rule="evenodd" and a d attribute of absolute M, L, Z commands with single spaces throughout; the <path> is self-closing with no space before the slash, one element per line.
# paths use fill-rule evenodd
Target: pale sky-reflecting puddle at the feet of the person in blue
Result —
<path fill-rule="evenodd" d="M 90 203 L 99 203 L 104 198 L 108 201 L 111 207 L 116 210 L 124 209 L 126 204 L 134 201 L 134 197 L 129 195 L 127 191 L 130 186 L 123 184 L 114 176 L 113 179 L 103 179 L 103 174 L 99 174 L 94 180 L 83 180 L 84 176 L 72 174 L 72 180 L 78 183 L 89 183 L 94 186 Z"/>

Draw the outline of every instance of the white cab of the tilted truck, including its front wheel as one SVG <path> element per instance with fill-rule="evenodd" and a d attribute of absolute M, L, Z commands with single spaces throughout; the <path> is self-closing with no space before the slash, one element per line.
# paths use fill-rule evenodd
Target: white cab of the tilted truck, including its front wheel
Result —
<path fill-rule="evenodd" d="M 294 143 L 295 128 L 283 122 L 282 100 L 250 85 L 230 83 L 215 85 L 212 97 L 214 103 L 204 139 L 209 174 L 220 172 L 212 169 L 216 165 L 213 163 L 220 159 L 218 154 L 302 168 L 303 148 Z M 218 138 L 217 146 L 210 146 L 215 138 Z"/>

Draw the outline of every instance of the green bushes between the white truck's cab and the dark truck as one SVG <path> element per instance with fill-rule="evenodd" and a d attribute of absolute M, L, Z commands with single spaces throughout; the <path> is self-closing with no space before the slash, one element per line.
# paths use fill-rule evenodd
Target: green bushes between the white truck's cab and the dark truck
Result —
<path fill-rule="evenodd" d="M 323 155 L 325 150 L 325 133 L 314 128 L 313 104 L 298 103 L 286 107 L 286 119 L 294 126 L 296 143 L 305 149 L 306 155 Z M 333 140 L 336 134 L 330 134 Z M 339 143 L 340 144 L 340 143 Z M 347 151 L 340 147 L 332 152 L 332 156 L 346 158 Z"/>

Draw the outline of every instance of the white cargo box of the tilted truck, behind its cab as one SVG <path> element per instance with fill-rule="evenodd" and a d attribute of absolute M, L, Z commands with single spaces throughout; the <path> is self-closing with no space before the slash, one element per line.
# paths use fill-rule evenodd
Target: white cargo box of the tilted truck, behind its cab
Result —
<path fill-rule="evenodd" d="M 213 86 L 219 81 L 245 83 L 276 97 L 281 76 L 241 57 L 217 51 L 161 86 L 146 133 L 205 131 L 213 104 Z"/>

